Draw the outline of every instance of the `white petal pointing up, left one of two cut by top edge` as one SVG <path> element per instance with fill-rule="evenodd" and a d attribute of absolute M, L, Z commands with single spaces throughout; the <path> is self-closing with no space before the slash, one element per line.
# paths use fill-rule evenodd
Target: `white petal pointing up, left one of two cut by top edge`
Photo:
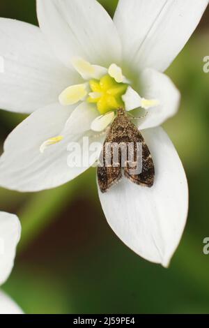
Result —
<path fill-rule="evenodd" d="M 108 67 L 121 59 L 111 17 L 95 0 L 37 1 L 40 29 L 66 66 L 73 57 Z"/>

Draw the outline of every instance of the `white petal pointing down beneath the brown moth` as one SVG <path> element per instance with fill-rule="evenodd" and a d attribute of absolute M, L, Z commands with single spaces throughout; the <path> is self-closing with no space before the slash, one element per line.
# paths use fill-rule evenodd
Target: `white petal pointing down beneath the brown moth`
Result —
<path fill-rule="evenodd" d="M 185 228 L 187 179 L 176 150 L 162 128 L 143 131 L 155 163 L 152 188 L 123 177 L 100 201 L 118 237 L 142 258 L 169 265 Z"/>

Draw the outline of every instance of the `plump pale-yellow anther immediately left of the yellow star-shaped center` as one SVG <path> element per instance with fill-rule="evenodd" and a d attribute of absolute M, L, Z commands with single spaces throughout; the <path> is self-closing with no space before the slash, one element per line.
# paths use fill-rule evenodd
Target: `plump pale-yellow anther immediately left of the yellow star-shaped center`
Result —
<path fill-rule="evenodd" d="M 73 105 L 80 100 L 84 100 L 88 92 L 86 90 L 86 84 L 76 84 L 65 89 L 59 96 L 59 102 L 61 105 Z"/>

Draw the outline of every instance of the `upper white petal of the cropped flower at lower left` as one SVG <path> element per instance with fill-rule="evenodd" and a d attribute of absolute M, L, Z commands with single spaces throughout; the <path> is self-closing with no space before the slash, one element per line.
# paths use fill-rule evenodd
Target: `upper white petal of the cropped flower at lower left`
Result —
<path fill-rule="evenodd" d="M 21 226 L 17 216 L 0 211 L 0 285 L 5 283 L 13 269 L 20 233 Z"/>

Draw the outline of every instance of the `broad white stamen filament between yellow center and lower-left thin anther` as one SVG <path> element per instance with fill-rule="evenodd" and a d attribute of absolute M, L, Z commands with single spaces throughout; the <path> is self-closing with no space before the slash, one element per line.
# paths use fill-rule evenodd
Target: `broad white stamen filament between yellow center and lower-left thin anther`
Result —
<path fill-rule="evenodd" d="M 99 112 L 94 105 L 86 102 L 81 103 L 70 115 L 61 135 L 84 133 L 90 130 L 92 121 L 98 115 Z"/>

